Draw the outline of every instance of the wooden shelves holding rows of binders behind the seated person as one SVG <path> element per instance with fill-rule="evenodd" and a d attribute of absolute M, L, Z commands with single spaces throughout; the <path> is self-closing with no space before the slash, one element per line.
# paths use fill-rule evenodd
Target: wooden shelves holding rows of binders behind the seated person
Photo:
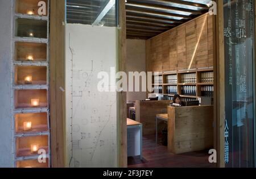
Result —
<path fill-rule="evenodd" d="M 202 74 L 208 74 L 208 76 L 205 76 L 205 79 L 202 79 Z M 212 75 L 210 75 L 212 73 Z M 195 74 L 196 82 L 190 83 L 190 82 L 181 82 L 181 76 L 184 74 Z M 168 76 L 170 75 L 177 75 L 177 83 L 170 83 L 168 84 Z M 156 76 L 163 76 L 163 84 L 152 84 L 152 86 L 161 86 L 163 91 L 162 93 L 156 93 L 154 91 L 154 94 L 160 94 L 160 95 L 167 95 L 168 97 L 174 97 L 174 94 L 168 94 L 167 87 L 168 86 L 177 86 L 177 94 L 180 94 L 182 98 L 191 98 L 191 99 L 197 99 L 198 97 L 202 96 L 201 86 L 213 86 L 213 68 L 204 68 L 204 69 L 193 69 L 193 70 L 182 70 L 182 71 L 176 71 L 171 73 L 156 73 L 153 74 L 153 81 L 155 78 L 158 78 Z M 204 82 L 202 82 L 204 81 Z M 209 82 L 205 82 L 209 81 Z M 183 86 L 195 86 L 196 95 L 184 95 L 182 94 L 181 88 Z M 213 89 L 213 88 L 212 88 Z M 212 91 L 213 92 L 213 91 Z"/>

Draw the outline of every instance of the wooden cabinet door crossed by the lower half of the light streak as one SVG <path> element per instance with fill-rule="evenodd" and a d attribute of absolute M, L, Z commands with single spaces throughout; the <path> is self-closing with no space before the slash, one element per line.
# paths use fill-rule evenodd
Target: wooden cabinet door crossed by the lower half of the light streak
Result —
<path fill-rule="evenodd" d="M 196 22 L 186 24 L 187 69 L 196 68 Z"/>

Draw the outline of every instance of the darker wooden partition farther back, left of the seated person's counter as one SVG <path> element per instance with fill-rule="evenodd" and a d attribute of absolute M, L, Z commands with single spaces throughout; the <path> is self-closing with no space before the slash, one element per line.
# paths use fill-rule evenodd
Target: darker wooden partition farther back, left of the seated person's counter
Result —
<path fill-rule="evenodd" d="M 143 135 L 155 134 L 156 114 L 167 113 L 167 107 L 171 102 L 170 100 L 135 102 L 136 120 L 143 124 Z"/>

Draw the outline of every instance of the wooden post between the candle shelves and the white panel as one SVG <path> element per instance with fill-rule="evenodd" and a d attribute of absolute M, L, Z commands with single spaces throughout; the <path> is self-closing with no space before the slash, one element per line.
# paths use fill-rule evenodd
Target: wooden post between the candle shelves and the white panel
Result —
<path fill-rule="evenodd" d="M 65 0 L 51 0 L 50 113 L 52 167 L 64 167 L 65 134 Z"/>

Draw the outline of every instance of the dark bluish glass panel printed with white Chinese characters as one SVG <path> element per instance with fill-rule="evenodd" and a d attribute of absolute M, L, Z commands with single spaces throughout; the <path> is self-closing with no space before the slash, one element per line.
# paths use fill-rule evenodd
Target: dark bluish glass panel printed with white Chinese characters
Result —
<path fill-rule="evenodd" d="M 225 164 L 254 167 L 254 1 L 224 1 Z"/>

